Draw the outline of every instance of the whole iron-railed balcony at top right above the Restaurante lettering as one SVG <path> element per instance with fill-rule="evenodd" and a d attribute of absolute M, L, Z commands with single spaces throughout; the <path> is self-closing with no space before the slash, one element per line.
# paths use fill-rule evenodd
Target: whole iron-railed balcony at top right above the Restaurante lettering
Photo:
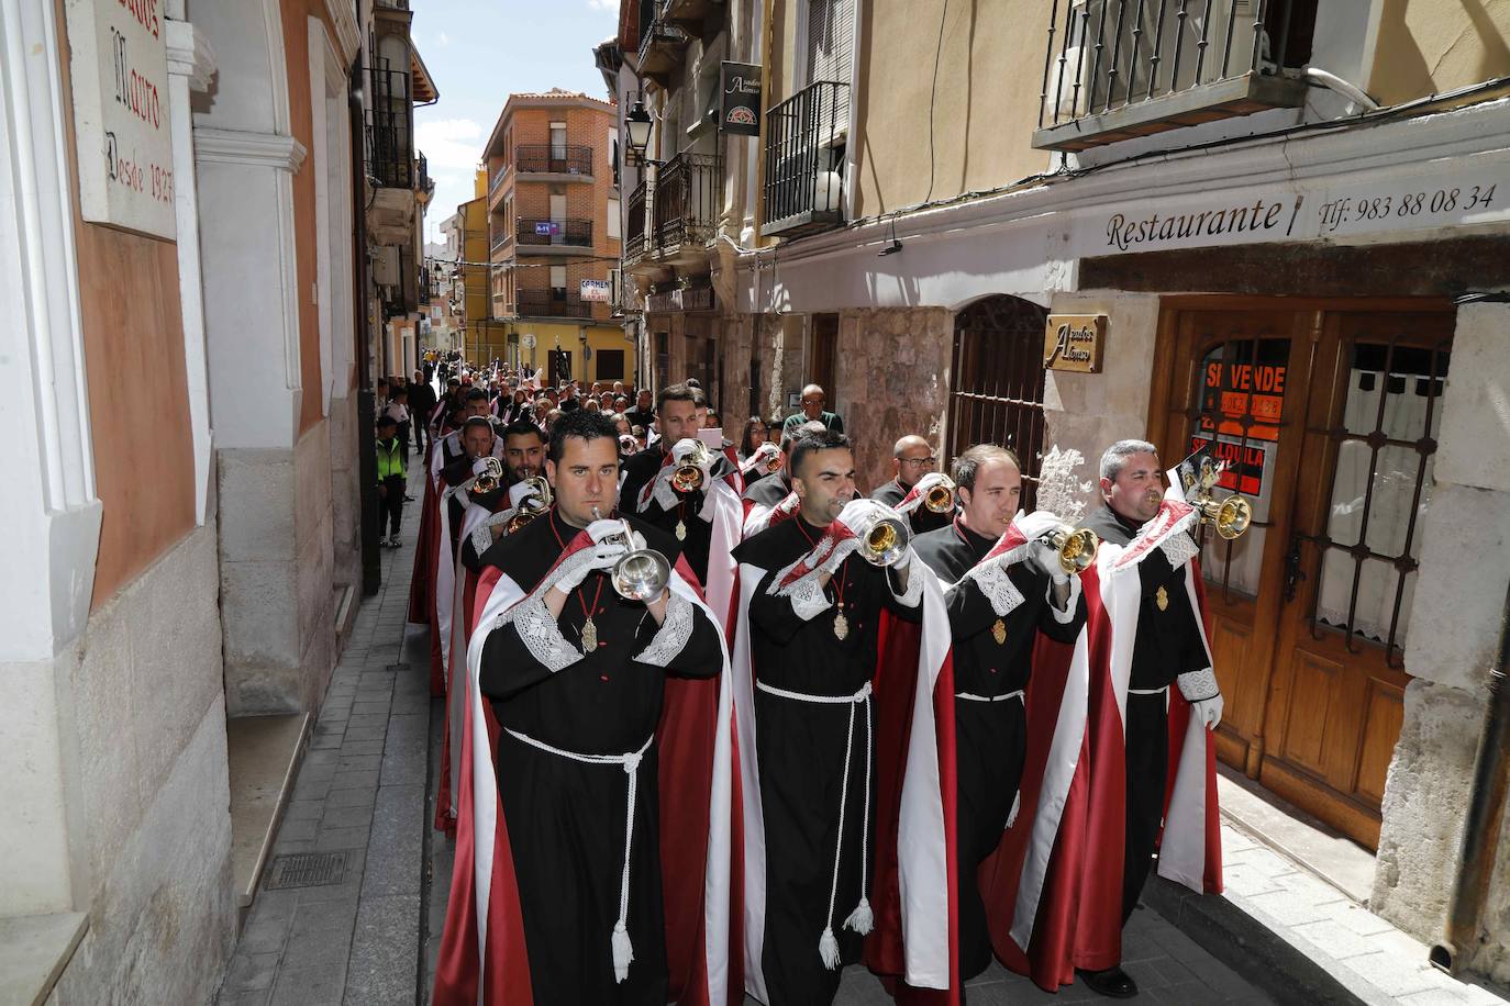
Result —
<path fill-rule="evenodd" d="M 1054 5 L 1033 146 L 1083 151 L 1305 104 L 1306 0 L 1068 0 Z"/>

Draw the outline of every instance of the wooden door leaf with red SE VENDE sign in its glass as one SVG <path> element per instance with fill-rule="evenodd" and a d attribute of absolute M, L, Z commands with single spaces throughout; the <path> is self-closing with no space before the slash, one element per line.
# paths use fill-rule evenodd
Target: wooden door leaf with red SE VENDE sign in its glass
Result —
<path fill-rule="evenodd" d="M 1223 492 L 1253 504 L 1235 541 L 1202 537 L 1211 650 L 1226 710 L 1217 728 L 1223 762 L 1256 775 L 1290 510 L 1306 412 L 1309 315 L 1279 309 L 1181 311 L 1173 336 L 1169 412 L 1155 437 L 1166 468 L 1214 443 L 1232 462 Z M 1300 380 L 1296 376 L 1302 376 Z M 1151 424 L 1157 428 L 1158 424 Z"/>

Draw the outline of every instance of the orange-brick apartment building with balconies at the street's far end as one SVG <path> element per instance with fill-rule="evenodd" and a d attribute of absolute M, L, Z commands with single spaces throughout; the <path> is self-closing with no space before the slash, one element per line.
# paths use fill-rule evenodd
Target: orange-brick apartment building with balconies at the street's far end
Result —
<path fill-rule="evenodd" d="M 615 109 L 583 94 L 509 95 L 483 148 L 491 317 L 510 365 L 548 380 L 627 380 L 612 317 L 621 252 Z"/>

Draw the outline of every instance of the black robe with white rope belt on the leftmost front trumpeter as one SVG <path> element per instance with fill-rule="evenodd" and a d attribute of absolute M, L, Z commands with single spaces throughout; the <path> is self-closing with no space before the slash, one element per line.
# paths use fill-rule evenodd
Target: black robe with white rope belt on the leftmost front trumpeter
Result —
<path fill-rule="evenodd" d="M 675 538 L 631 523 L 675 566 Z M 530 591 L 575 534 L 553 510 L 498 541 L 489 558 Z M 516 623 L 507 623 L 483 646 L 480 688 L 506 730 L 577 754 L 637 751 L 660 721 L 666 674 L 720 673 L 719 627 L 693 606 L 692 636 L 661 668 L 633 659 L 655 636 L 655 620 L 645 605 L 621 599 L 602 572 L 589 573 L 562 608 L 557 624 L 571 646 L 581 647 L 589 605 L 599 641 L 592 655 L 553 673 L 532 655 Z M 539 1006 L 666 1001 L 655 774 L 651 744 L 639 768 L 630 869 L 634 962 L 619 983 L 609 937 L 619 917 L 627 775 L 618 765 L 584 765 L 500 731 L 498 795 Z"/>

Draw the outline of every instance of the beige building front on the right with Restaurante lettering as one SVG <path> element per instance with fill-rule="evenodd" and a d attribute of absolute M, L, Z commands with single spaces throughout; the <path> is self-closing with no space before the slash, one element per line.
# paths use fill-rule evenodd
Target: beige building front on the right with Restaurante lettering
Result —
<path fill-rule="evenodd" d="M 625 3 L 625 62 L 695 63 L 690 8 Z M 1222 760 L 1376 851 L 1374 911 L 1505 980 L 1504 822 L 1465 820 L 1510 581 L 1510 15 L 1179 11 L 764 5 L 755 232 L 720 222 L 702 351 L 769 418 L 824 385 L 871 484 L 904 433 L 1015 448 L 1028 499 L 1051 446 L 1093 480 L 1119 437 L 1213 443 L 1256 508 L 1203 551 Z M 695 373 L 649 329 L 657 382 Z M 1099 333 L 1093 371 L 1046 362 L 1060 330 Z"/>

